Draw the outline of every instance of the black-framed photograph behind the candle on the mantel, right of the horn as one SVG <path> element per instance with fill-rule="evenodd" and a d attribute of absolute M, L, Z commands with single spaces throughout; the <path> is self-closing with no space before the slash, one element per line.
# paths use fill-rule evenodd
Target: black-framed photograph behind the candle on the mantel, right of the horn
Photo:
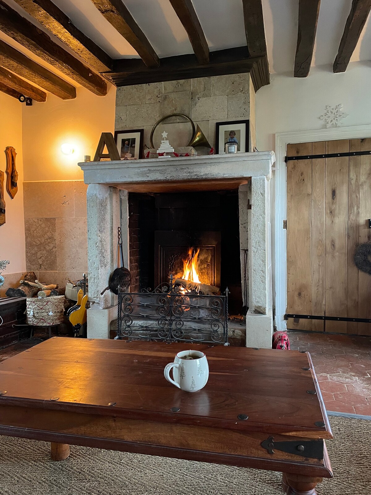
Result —
<path fill-rule="evenodd" d="M 215 151 L 217 154 L 226 152 L 226 143 L 237 143 L 237 153 L 248 152 L 249 121 L 217 122 L 215 133 Z"/>

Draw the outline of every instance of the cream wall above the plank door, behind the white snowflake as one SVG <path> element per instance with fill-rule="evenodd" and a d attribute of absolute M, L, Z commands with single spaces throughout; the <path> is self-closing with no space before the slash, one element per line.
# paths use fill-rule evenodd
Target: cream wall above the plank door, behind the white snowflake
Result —
<path fill-rule="evenodd" d="M 275 149 L 279 132 L 325 128 L 319 116 L 325 106 L 343 105 L 343 126 L 371 123 L 371 66 L 350 63 L 334 74 L 330 66 L 312 67 L 307 78 L 271 75 L 271 84 L 256 94 L 256 137 L 259 151 Z"/>

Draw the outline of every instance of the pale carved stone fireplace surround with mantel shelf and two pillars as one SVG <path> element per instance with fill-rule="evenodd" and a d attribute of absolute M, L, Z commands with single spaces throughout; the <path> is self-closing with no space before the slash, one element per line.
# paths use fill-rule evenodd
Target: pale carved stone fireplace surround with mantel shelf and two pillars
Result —
<path fill-rule="evenodd" d="M 270 179 L 273 151 L 125 161 L 83 162 L 88 184 L 88 337 L 109 338 L 117 317 L 117 296 L 106 291 L 117 267 L 121 225 L 125 266 L 129 266 L 128 193 L 238 189 L 241 279 L 248 249 L 249 311 L 246 346 L 272 347 Z M 130 269 L 130 266 L 129 266 Z"/>

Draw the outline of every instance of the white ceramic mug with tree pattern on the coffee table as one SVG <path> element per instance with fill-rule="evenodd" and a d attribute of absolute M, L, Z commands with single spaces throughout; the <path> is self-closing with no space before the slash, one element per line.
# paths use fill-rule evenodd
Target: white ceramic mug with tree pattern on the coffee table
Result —
<path fill-rule="evenodd" d="M 170 378 L 173 369 L 174 380 Z M 185 392 L 197 392 L 205 387 L 209 379 L 209 364 L 206 356 L 199 350 L 182 350 L 175 356 L 174 362 L 165 366 L 164 375 L 168 382 Z"/>

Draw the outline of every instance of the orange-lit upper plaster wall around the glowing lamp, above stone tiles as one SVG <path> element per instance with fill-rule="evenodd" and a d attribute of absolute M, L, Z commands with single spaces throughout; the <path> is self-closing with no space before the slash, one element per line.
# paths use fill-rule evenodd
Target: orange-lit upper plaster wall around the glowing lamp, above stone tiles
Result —
<path fill-rule="evenodd" d="M 93 155 L 102 132 L 114 132 L 116 88 L 108 85 L 105 97 L 77 88 L 76 99 L 62 100 L 48 93 L 45 103 L 23 106 L 25 181 L 82 180 L 77 165 Z M 60 151 L 73 146 L 71 155 Z"/>

